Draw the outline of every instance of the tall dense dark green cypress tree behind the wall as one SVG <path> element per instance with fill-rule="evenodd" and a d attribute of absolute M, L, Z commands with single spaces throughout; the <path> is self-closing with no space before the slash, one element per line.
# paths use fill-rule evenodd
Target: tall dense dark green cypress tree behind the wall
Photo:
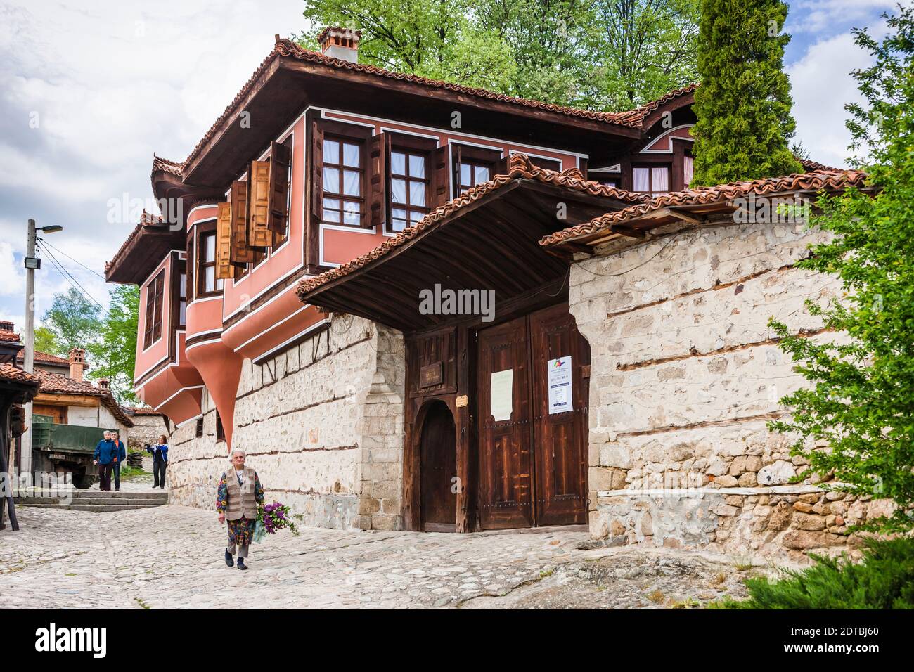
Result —
<path fill-rule="evenodd" d="M 692 186 L 802 172 L 789 146 L 786 18 L 781 0 L 702 0 Z"/>

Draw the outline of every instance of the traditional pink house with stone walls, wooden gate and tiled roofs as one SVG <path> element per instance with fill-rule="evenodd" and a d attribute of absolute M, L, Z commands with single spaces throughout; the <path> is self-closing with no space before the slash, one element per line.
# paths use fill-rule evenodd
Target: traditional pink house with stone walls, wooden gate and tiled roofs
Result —
<path fill-rule="evenodd" d="M 799 384 L 768 317 L 820 334 L 802 301 L 834 282 L 792 265 L 818 234 L 754 208 L 863 176 L 690 190 L 695 87 L 576 110 L 359 64 L 358 40 L 277 37 L 184 162 L 154 157 L 178 216 L 107 265 L 141 287 L 171 501 L 211 507 L 233 446 L 312 525 L 837 543 L 836 514 L 792 524 L 821 493 L 765 429 Z"/>

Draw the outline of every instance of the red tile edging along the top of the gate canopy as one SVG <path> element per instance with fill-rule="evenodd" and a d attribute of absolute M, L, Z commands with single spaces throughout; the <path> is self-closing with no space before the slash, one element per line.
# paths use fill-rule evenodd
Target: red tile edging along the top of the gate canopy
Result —
<path fill-rule="evenodd" d="M 623 191 L 616 187 L 609 187 L 597 182 L 585 180 L 578 168 L 570 168 L 569 170 L 559 173 L 555 170 L 547 170 L 546 168 L 540 168 L 538 165 L 534 165 L 526 155 L 515 154 L 511 156 L 511 159 L 508 162 L 508 172 L 506 175 L 496 175 L 488 182 L 467 189 L 460 196 L 448 201 L 440 208 L 432 210 L 414 226 L 399 232 L 389 240 L 385 240 L 378 245 L 377 248 L 363 254 L 361 257 L 356 257 L 356 259 L 348 261 L 332 271 L 323 272 L 320 275 L 316 275 L 312 278 L 305 278 L 300 281 L 298 289 L 296 290 L 299 298 L 302 298 L 304 294 L 311 292 L 323 284 L 354 272 L 367 265 L 367 263 L 385 256 L 390 251 L 396 250 L 407 241 L 416 238 L 416 236 L 420 235 L 425 229 L 433 227 L 441 221 L 441 219 L 449 217 L 457 210 L 465 208 L 474 201 L 491 194 L 501 187 L 505 187 L 505 185 L 516 179 L 536 180 L 537 182 L 552 184 L 558 187 L 567 187 L 593 196 L 615 198 L 617 200 L 629 201 L 632 203 L 642 203 L 649 200 L 649 197 L 643 194 L 635 194 L 631 191 Z"/>

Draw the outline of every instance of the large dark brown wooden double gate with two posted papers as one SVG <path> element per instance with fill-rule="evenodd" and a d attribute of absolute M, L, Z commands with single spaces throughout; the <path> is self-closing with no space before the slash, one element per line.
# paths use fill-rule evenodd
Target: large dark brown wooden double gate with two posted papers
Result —
<path fill-rule="evenodd" d="M 568 305 L 478 339 L 481 527 L 586 522 L 590 347 Z"/>

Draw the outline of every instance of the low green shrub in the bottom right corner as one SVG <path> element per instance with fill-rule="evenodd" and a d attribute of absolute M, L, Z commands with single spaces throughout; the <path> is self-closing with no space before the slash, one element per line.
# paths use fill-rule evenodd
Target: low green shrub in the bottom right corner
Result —
<path fill-rule="evenodd" d="M 749 599 L 725 600 L 723 609 L 912 609 L 914 608 L 914 539 L 867 539 L 863 560 L 854 563 L 813 556 L 802 571 L 784 577 L 746 580 Z"/>

